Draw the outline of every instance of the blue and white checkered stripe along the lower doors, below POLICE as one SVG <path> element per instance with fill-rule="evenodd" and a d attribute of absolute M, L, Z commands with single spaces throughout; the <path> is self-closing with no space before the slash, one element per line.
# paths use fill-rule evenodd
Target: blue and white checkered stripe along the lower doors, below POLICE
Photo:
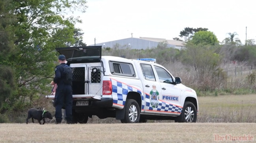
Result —
<path fill-rule="evenodd" d="M 159 100 L 159 104 L 156 108 L 152 108 L 150 102 L 146 102 L 146 106 L 149 107 L 148 111 L 157 111 L 157 112 L 170 112 L 170 113 L 181 113 L 182 107 L 172 105 L 163 100 Z"/>

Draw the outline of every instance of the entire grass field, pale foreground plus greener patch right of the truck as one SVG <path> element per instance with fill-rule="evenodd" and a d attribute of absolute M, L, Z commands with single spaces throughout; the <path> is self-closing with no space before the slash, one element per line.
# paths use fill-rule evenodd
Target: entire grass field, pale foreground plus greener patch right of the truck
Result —
<path fill-rule="evenodd" d="M 256 95 L 198 97 L 197 123 L 121 124 L 89 118 L 87 124 L 0 124 L 0 143 L 223 143 L 256 142 Z M 48 120 L 49 121 L 49 120 Z M 210 122 L 210 123 L 209 123 Z M 242 122 L 242 123 L 241 123 Z"/>

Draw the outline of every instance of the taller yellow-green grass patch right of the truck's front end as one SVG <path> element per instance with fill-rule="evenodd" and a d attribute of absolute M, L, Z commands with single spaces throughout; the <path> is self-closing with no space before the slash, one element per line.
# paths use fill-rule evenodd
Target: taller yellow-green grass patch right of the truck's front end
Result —
<path fill-rule="evenodd" d="M 197 122 L 256 123 L 256 95 L 198 97 Z"/>

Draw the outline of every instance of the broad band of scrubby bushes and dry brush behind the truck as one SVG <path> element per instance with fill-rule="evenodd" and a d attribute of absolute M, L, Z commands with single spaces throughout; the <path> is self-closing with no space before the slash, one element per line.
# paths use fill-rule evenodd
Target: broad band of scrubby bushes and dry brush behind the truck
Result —
<path fill-rule="evenodd" d="M 209 34 L 213 33 L 209 32 Z M 154 49 L 146 50 L 129 49 L 126 45 L 116 44 L 112 49 L 103 49 L 103 55 L 129 59 L 155 58 L 157 63 L 164 65 L 174 76 L 181 77 L 185 85 L 195 89 L 199 96 L 255 93 L 256 45 L 254 42 L 237 45 L 234 40 L 230 40 L 219 44 L 214 35 L 208 37 L 212 39 L 209 40 L 209 44 L 207 40 L 200 42 L 200 38 L 195 40 L 192 37 L 181 50 L 166 47 L 165 41 L 160 42 Z M 235 67 L 251 68 L 247 70 L 249 72 L 243 72 L 242 76 L 230 75 L 231 71 L 228 70 Z"/>

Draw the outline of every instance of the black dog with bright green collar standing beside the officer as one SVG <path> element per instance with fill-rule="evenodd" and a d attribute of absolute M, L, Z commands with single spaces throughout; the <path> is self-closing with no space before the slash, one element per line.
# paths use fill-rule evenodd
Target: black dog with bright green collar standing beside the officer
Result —
<path fill-rule="evenodd" d="M 26 120 L 26 123 L 28 124 L 28 119 L 32 118 L 32 122 L 34 123 L 34 119 L 37 119 L 39 124 L 41 125 L 41 120 L 43 119 L 43 124 L 45 124 L 45 118 L 52 119 L 52 114 L 46 110 L 37 110 L 34 108 L 31 108 L 28 110 L 28 118 Z"/>

